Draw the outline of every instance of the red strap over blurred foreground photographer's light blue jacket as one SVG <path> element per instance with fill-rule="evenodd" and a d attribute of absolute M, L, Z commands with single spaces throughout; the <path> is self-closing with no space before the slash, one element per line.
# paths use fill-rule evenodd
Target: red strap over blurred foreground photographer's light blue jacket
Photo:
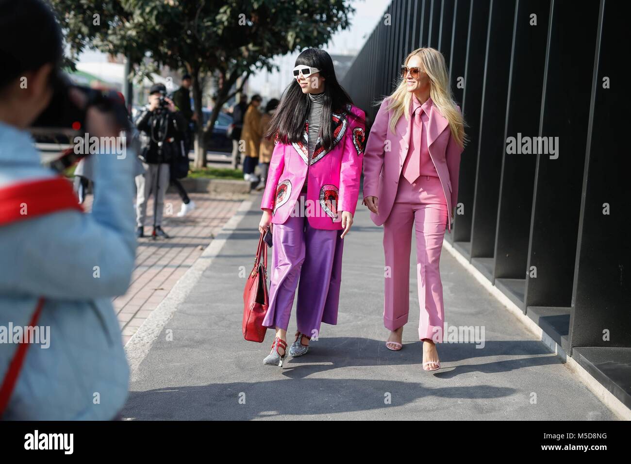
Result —
<path fill-rule="evenodd" d="M 64 177 L 25 181 L 0 188 L 0 226 L 61 210 L 83 212 L 70 182 Z M 44 307 L 44 298 L 40 297 L 28 323 L 29 327 L 37 325 L 42 307 Z M 32 342 L 28 338 L 29 335 L 30 333 L 25 331 L 24 338 L 18 343 L 18 348 L 0 386 L 0 417 L 9 404 L 18 376 L 20 376 L 28 347 Z"/>

